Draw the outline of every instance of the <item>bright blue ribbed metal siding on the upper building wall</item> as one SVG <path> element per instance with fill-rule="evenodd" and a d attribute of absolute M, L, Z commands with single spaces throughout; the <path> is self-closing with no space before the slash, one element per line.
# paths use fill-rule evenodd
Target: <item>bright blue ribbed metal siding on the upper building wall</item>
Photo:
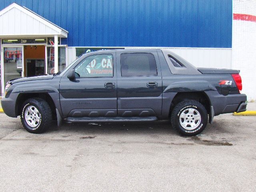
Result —
<path fill-rule="evenodd" d="M 0 0 L 69 32 L 68 46 L 231 48 L 232 0 Z"/>

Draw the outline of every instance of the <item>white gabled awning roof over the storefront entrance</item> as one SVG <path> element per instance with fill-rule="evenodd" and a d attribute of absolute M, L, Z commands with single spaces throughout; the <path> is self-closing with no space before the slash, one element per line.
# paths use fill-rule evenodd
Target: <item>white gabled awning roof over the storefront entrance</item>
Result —
<path fill-rule="evenodd" d="M 26 7 L 16 3 L 0 11 L 0 38 L 66 38 L 68 31 L 60 28 Z"/>

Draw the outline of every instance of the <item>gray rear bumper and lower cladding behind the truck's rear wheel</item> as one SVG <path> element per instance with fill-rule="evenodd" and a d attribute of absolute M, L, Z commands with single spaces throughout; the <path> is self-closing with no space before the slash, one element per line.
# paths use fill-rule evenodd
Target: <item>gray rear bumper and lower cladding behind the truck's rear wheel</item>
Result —
<path fill-rule="evenodd" d="M 211 106 L 214 109 L 214 116 L 246 111 L 246 94 L 230 94 L 224 96 L 217 91 L 207 91 L 205 93 L 210 98 Z"/>

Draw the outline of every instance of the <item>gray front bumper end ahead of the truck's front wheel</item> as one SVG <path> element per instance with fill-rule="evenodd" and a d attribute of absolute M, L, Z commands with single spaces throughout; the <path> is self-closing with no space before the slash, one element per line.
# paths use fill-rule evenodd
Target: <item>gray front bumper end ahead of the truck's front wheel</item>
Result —
<path fill-rule="evenodd" d="M 12 93 L 8 98 L 2 98 L 1 105 L 4 113 L 9 117 L 17 117 L 16 115 L 16 99 L 18 94 Z"/>

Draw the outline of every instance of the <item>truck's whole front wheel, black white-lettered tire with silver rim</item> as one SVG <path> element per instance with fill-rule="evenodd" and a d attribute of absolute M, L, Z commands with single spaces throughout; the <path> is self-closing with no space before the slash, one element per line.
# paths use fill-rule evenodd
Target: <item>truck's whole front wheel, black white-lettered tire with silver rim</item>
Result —
<path fill-rule="evenodd" d="M 34 108 L 33 108 L 34 107 Z M 28 109 L 28 110 L 27 110 Z M 31 109 L 31 110 L 30 110 Z M 30 113 L 34 109 L 33 114 Z M 27 117 L 25 118 L 25 112 L 27 110 Z M 36 119 L 37 118 L 37 119 Z M 52 122 L 52 111 L 49 104 L 41 98 L 30 98 L 22 104 L 20 119 L 24 128 L 30 133 L 42 133 L 47 130 Z M 32 122 L 35 122 L 33 124 Z M 35 120 L 34 120 L 35 119 Z M 32 126 L 30 126 L 33 124 Z"/>

